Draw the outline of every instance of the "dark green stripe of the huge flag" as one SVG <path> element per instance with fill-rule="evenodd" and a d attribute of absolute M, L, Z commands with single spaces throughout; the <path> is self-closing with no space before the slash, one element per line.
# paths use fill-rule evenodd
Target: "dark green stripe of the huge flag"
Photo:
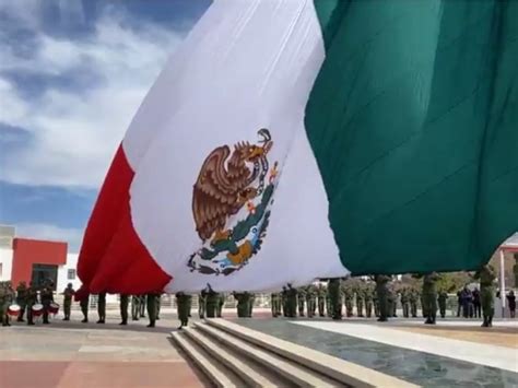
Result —
<path fill-rule="evenodd" d="M 518 231 L 518 2 L 315 0 L 306 130 L 355 274 L 474 269 Z"/>

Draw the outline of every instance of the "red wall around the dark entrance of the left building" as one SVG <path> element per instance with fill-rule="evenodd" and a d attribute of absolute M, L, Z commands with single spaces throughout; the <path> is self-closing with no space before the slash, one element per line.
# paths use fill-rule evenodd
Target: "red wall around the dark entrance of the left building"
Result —
<path fill-rule="evenodd" d="M 21 281 L 28 284 L 35 263 L 63 266 L 67 263 L 67 243 L 14 238 L 11 278 L 14 286 Z"/>

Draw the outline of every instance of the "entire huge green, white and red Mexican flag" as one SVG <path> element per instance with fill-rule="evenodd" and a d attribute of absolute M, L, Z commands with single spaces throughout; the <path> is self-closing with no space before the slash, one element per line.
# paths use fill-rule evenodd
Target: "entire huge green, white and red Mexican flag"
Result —
<path fill-rule="evenodd" d="M 84 290 L 485 263 L 518 231 L 517 20 L 517 1 L 214 1 L 115 155 Z"/>

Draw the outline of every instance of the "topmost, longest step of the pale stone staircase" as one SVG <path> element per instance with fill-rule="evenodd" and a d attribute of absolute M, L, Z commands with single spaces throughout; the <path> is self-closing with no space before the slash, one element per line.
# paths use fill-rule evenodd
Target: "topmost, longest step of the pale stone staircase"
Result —
<path fill-rule="evenodd" d="M 292 380 L 301 386 L 323 387 L 329 386 L 329 384 L 332 385 L 332 381 L 334 381 L 335 386 L 349 387 L 416 387 L 399 378 L 248 329 L 228 320 L 208 319 L 207 324 L 204 326 L 199 325 L 199 328 L 204 330 L 204 332 L 224 332 L 226 337 L 219 333 L 219 338 L 224 339 L 229 346 L 243 346 L 246 349 L 247 355 L 254 354 L 254 352 L 257 352 L 254 349 L 258 349 L 260 351 L 258 354 L 266 354 L 268 357 L 271 357 L 269 360 L 276 356 L 285 363 L 284 365 L 289 365 L 293 368 L 297 366 L 304 367 L 307 378 L 305 380 Z M 209 331 L 208 328 L 213 331 Z M 264 363 L 268 363 L 267 358 L 264 358 Z M 278 369 L 279 373 L 284 373 L 283 376 L 287 377 L 292 375 L 287 373 L 287 371 L 281 371 L 282 369 Z M 317 378 L 321 378 L 322 381 L 326 381 L 325 385 L 323 383 L 322 385 L 315 385 L 315 380 L 308 377 L 310 373 L 316 374 L 316 376 L 319 376 Z M 315 375 L 313 375 L 311 378 L 314 376 Z"/>

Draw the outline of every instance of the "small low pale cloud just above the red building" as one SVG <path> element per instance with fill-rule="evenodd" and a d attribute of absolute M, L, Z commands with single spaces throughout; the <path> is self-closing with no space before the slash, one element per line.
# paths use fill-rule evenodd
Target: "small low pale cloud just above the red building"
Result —
<path fill-rule="evenodd" d="M 16 224 L 16 237 L 68 243 L 69 251 L 76 252 L 83 239 L 83 231 L 52 224 L 22 223 Z"/>

